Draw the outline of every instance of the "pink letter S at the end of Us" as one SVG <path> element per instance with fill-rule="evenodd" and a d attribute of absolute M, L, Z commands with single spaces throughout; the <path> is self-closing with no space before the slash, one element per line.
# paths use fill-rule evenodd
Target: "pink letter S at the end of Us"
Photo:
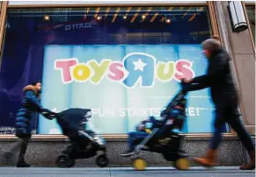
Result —
<path fill-rule="evenodd" d="M 176 62 L 175 79 L 181 81 L 182 78 L 193 78 L 194 71 L 192 69 L 192 62 L 189 60 L 178 60 Z"/>

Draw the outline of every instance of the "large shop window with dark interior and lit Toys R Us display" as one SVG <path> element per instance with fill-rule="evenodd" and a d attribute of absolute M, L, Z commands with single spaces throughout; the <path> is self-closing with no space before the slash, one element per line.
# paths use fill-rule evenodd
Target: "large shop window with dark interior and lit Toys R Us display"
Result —
<path fill-rule="evenodd" d="M 0 73 L 0 127 L 11 133 L 22 88 L 42 81 L 49 110 L 92 109 L 103 134 L 127 133 L 204 74 L 201 41 L 211 36 L 208 7 L 8 9 Z M 208 89 L 190 93 L 184 132 L 211 132 Z M 35 115 L 33 130 L 61 133 Z"/>

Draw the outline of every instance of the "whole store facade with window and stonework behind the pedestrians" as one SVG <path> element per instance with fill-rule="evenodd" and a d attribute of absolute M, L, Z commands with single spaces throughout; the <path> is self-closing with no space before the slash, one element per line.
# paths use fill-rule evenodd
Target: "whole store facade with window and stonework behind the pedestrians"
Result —
<path fill-rule="evenodd" d="M 15 139 L 14 121 L 22 88 L 40 80 L 43 106 L 54 111 L 90 108 L 91 124 L 108 142 L 111 164 L 128 165 L 128 159 L 116 154 L 127 146 L 128 131 L 149 116 L 158 117 L 179 91 L 182 77 L 206 72 L 201 42 L 212 35 L 220 36 L 232 56 L 239 110 L 254 136 L 255 4 L 241 2 L 238 6 L 248 26 L 241 32 L 232 29 L 236 24 L 228 4 L 2 2 L 1 149 Z M 208 147 L 215 108 L 208 89 L 187 97 L 182 133 L 187 137 L 185 149 L 195 156 Z M 34 115 L 32 128 L 29 160 L 35 165 L 54 165 L 67 138 L 55 121 L 40 115 Z M 247 158 L 228 125 L 220 153 L 222 165 L 240 165 Z M 145 155 L 151 165 L 167 164 L 158 155 Z M 91 165 L 91 161 L 79 163 Z"/>

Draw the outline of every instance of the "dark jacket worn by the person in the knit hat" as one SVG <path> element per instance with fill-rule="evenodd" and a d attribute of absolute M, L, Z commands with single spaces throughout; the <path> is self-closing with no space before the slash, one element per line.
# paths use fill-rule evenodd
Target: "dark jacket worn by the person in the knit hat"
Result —
<path fill-rule="evenodd" d="M 237 103 L 238 95 L 230 68 L 230 55 L 219 48 L 211 53 L 208 60 L 207 74 L 195 77 L 189 91 L 210 88 L 213 102 L 216 106 Z"/>

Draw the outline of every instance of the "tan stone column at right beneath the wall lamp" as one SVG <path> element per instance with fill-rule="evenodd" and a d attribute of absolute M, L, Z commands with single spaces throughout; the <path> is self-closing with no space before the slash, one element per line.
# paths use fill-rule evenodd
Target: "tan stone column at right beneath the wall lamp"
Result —
<path fill-rule="evenodd" d="M 242 118 L 246 129 L 255 135 L 255 51 L 251 33 L 248 29 L 232 32 L 228 2 L 216 1 L 214 4 L 223 46 L 232 57 L 231 65 L 237 81 Z"/>

